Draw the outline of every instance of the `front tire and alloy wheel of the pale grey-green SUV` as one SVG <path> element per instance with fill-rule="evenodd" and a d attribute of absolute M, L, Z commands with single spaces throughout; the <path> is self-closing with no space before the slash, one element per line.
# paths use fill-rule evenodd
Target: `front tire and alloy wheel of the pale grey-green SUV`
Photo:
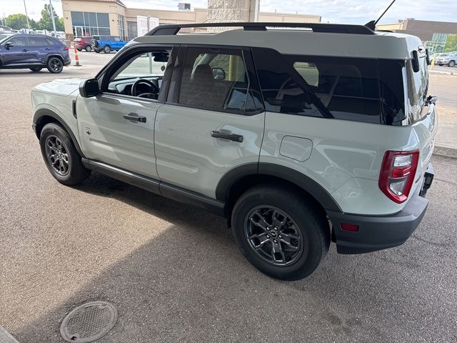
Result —
<path fill-rule="evenodd" d="M 44 126 L 40 134 L 41 156 L 51 175 L 61 184 L 83 182 L 91 171 L 82 164 L 68 132 L 57 123 Z"/>

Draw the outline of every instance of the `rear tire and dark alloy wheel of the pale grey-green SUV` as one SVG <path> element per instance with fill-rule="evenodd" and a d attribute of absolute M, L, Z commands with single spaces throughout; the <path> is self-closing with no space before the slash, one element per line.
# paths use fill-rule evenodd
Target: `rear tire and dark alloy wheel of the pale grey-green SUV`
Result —
<path fill-rule="evenodd" d="M 273 217 L 277 219 L 276 226 Z M 313 199 L 287 185 L 249 189 L 233 207 L 231 223 L 233 236 L 246 259 L 276 279 L 307 277 L 316 270 L 330 246 L 325 212 Z"/>

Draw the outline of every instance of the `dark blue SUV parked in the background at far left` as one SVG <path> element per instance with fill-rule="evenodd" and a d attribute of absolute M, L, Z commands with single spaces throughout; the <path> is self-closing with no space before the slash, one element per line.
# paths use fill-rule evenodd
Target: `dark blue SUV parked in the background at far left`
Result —
<path fill-rule="evenodd" d="M 47 68 L 57 74 L 70 63 L 69 47 L 51 36 L 14 34 L 0 41 L 0 69 Z"/>

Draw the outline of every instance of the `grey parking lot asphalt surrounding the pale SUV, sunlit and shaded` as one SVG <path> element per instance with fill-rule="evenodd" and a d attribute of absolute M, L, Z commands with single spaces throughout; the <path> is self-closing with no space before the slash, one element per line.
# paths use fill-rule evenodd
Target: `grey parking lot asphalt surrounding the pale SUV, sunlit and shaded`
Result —
<path fill-rule="evenodd" d="M 0 325 L 19 342 L 63 342 L 65 315 L 99 299 L 119 320 L 98 342 L 457 342 L 457 159 L 433 156 L 428 211 L 406 244 L 332 245 L 310 277 L 281 282 L 218 217 L 101 174 L 76 187 L 51 177 L 30 89 L 94 76 L 114 54 L 80 56 L 58 76 L 0 70 Z"/>

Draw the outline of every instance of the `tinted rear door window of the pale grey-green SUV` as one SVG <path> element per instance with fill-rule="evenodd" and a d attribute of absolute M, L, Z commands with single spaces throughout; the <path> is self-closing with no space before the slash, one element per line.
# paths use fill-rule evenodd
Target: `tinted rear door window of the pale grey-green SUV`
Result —
<path fill-rule="evenodd" d="M 236 113 L 261 108 L 249 79 L 241 50 L 189 48 L 178 102 Z"/>

